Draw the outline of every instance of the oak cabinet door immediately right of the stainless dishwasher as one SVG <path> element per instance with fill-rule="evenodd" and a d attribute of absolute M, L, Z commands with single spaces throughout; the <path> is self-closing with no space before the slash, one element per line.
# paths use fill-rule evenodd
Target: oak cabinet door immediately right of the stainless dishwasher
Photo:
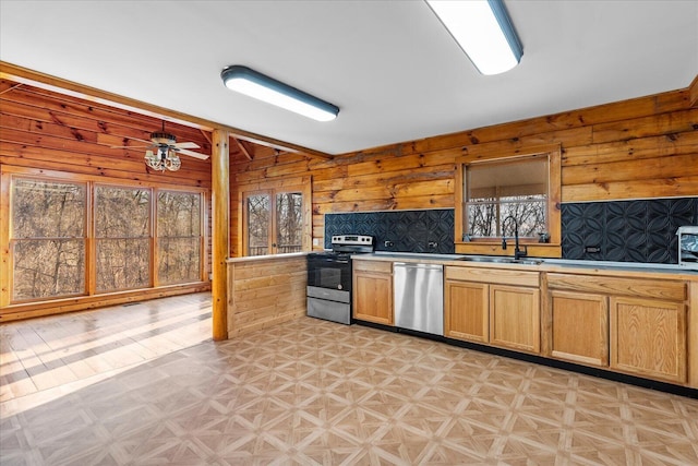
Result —
<path fill-rule="evenodd" d="M 488 343 L 489 301 L 485 284 L 446 280 L 444 334 L 450 338 Z"/>

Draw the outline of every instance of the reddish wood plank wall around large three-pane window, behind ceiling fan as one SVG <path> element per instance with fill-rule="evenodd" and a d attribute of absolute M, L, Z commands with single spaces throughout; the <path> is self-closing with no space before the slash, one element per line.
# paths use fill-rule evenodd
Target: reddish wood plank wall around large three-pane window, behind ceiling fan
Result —
<path fill-rule="evenodd" d="M 0 80 L 0 170 L 22 167 L 86 175 L 108 180 L 127 180 L 159 187 L 195 187 L 206 190 L 207 251 L 210 253 L 210 160 L 182 156 L 179 171 L 148 171 L 144 148 L 110 148 L 111 145 L 143 145 L 136 138 L 148 141 L 151 132 L 161 130 L 161 120 L 104 104 L 58 94 L 27 84 Z M 210 133 L 198 129 L 166 122 L 165 129 L 178 141 L 193 141 L 202 153 L 210 154 Z M 236 145 L 231 153 L 239 154 Z M 3 213 L 4 214 L 4 213 Z M 4 246 L 2 246 L 4 248 Z M 210 271 L 210 255 L 206 275 Z M 7 280 L 3 277 L 3 286 Z M 13 318 L 27 318 L 55 312 L 137 301 L 172 294 L 208 289 L 208 283 L 177 286 L 159 290 L 137 290 L 111 297 L 88 297 L 20 306 L 12 310 Z M 2 319 L 10 313 L 2 312 Z"/>

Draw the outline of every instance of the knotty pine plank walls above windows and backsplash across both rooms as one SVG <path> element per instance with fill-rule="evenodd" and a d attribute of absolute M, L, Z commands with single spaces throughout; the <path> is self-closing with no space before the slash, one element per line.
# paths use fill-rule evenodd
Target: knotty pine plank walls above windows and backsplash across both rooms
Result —
<path fill-rule="evenodd" d="M 695 81 L 695 83 L 698 80 Z M 691 91 L 693 89 L 693 91 Z M 513 153 L 563 146 L 563 202 L 698 195 L 698 108 L 691 89 L 666 92 L 552 116 L 392 144 L 332 159 L 255 146 L 252 159 L 231 146 L 231 244 L 237 244 L 237 186 L 312 176 L 313 238 L 322 248 L 324 214 L 454 206 L 454 158 L 469 147 Z M 691 94 L 693 93 L 693 94 Z M 0 81 L 0 164 L 105 178 L 210 188 L 210 163 L 186 158 L 178 172 L 148 174 L 141 150 L 111 150 L 147 140 L 161 122 Z M 210 151 L 209 134 L 167 123 L 180 141 Z M 240 255 L 232 250 L 232 255 Z"/>

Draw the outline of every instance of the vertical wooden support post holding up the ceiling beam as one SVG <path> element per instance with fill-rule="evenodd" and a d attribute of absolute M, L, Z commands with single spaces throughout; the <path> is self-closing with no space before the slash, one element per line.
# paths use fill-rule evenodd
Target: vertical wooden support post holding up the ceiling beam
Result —
<path fill-rule="evenodd" d="M 230 155 L 228 131 L 214 130 L 212 144 L 213 338 L 228 339 L 228 264 L 230 256 Z"/>

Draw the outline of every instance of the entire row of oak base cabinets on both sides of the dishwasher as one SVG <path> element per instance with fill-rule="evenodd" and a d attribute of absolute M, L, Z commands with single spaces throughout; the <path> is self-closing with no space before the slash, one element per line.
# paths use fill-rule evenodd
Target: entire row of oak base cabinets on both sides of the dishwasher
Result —
<path fill-rule="evenodd" d="M 698 386 L 697 282 L 450 264 L 444 278 L 446 337 Z M 353 316 L 394 325 L 390 262 L 354 259 Z"/>

